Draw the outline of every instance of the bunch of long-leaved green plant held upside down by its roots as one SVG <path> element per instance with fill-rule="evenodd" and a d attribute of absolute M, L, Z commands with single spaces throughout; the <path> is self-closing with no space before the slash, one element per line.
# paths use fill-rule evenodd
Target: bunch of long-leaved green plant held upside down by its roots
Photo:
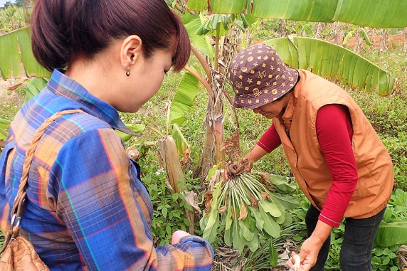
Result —
<path fill-rule="evenodd" d="M 283 195 L 295 191 L 287 177 L 266 174 L 265 178 L 259 171 L 243 170 L 245 166 L 232 169 L 206 193 L 200 221 L 203 238 L 213 243 L 223 232 L 224 243 L 240 253 L 245 245 L 257 250 L 261 236 L 279 237 L 281 227 L 292 223 L 287 210 L 297 206 L 294 198 Z"/>

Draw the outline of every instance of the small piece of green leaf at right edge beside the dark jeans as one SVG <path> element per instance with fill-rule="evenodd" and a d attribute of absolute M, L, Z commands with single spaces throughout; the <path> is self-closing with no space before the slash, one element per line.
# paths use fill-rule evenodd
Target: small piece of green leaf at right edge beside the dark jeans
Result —
<path fill-rule="evenodd" d="M 374 245 L 391 247 L 407 244 L 407 221 L 382 223 L 377 230 Z"/>

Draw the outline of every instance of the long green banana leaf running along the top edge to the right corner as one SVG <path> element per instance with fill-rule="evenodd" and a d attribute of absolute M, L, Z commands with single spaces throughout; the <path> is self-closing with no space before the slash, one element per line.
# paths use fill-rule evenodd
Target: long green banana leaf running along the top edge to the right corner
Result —
<path fill-rule="evenodd" d="M 189 0 L 187 8 L 215 14 L 248 13 L 260 18 L 293 21 L 342 21 L 376 28 L 407 26 L 405 0 Z M 247 10 L 247 7 L 250 10 Z"/>

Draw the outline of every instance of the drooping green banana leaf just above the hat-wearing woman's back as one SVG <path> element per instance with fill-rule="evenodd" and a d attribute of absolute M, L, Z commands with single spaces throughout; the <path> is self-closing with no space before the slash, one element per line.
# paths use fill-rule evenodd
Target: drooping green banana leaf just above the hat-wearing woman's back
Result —
<path fill-rule="evenodd" d="M 292 68 L 310 69 L 329 80 L 341 80 L 365 92 L 377 90 L 380 95 L 396 87 L 396 79 L 385 70 L 334 43 L 304 37 L 273 38 L 265 43 Z"/>

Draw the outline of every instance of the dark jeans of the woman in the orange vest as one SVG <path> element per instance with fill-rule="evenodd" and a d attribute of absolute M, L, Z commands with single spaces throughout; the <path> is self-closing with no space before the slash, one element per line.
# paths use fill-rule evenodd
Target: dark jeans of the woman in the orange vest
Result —
<path fill-rule="evenodd" d="M 345 233 L 339 256 L 339 264 L 342 271 L 371 271 L 371 250 L 373 250 L 374 238 L 377 228 L 384 216 L 384 208 L 376 216 L 370 218 L 354 219 L 345 218 Z M 312 234 L 317 225 L 319 211 L 310 206 L 305 216 L 307 225 L 307 237 Z M 323 271 L 327 261 L 331 239 L 328 238 L 321 250 L 318 260 L 311 271 Z"/>

